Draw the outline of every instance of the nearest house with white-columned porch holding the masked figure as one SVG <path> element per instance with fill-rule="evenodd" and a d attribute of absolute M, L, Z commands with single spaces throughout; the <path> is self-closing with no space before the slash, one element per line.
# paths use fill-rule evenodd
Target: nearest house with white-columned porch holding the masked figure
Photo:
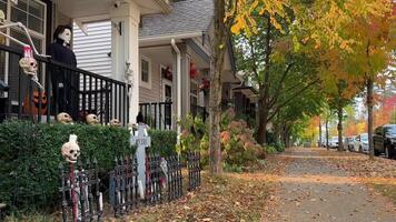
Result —
<path fill-rule="evenodd" d="M 125 78 L 125 69 L 138 73 L 139 69 L 139 22 L 140 17 L 152 13 L 169 13 L 171 6 L 167 0 L 1 0 L 0 9 L 8 22 L 22 22 L 29 30 L 32 41 L 40 52 L 46 51 L 52 39 L 52 32 L 58 24 L 71 24 L 73 21 L 82 24 L 89 21 L 110 20 L 119 29 L 111 31 L 111 79 L 103 78 L 95 72 L 82 69 L 72 69 L 49 59 L 37 58 L 39 61 L 39 80 L 46 85 L 49 95 L 37 93 L 29 80 L 20 72 L 19 58 L 22 56 L 16 46 L 8 39 L 1 39 L 0 44 L 0 79 L 10 90 L 6 93 L 10 103 L 10 114 L 23 118 L 29 113 L 37 115 L 38 121 L 47 113 L 47 121 L 57 112 L 51 104 L 51 89 L 48 71 L 58 69 L 68 75 L 78 75 L 80 83 L 80 111 L 98 111 L 100 120 L 107 122 L 112 118 L 122 120 L 123 124 L 138 113 L 139 80 L 130 75 Z M 122 30 L 121 30 L 122 29 Z M 2 30 L 16 39 L 27 42 L 26 36 L 18 28 Z M 121 34 L 120 34 L 121 33 Z M 126 79 L 129 84 L 125 84 Z M 133 87 L 135 85 L 135 87 Z M 39 102 L 29 100 L 38 95 Z M 27 95 L 28 94 L 28 95 Z M 43 98 L 48 100 L 43 100 Z M 44 108 L 44 109 L 43 109 Z"/>

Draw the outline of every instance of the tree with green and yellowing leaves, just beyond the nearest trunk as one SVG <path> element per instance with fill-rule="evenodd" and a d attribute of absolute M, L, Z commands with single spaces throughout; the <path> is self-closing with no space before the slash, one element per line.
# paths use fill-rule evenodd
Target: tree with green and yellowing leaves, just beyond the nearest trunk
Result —
<path fill-rule="evenodd" d="M 285 10 L 279 8 L 279 10 Z M 256 34 L 250 29 L 238 30 L 235 42 L 238 70 L 258 87 L 257 141 L 266 144 L 267 124 L 283 108 L 317 83 L 315 56 L 293 50 L 289 18 L 251 11 Z"/>

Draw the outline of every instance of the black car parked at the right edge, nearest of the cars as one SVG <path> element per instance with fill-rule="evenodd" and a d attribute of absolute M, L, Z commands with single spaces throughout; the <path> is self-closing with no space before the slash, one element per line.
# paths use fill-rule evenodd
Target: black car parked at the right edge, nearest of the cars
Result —
<path fill-rule="evenodd" d="M 386 158 L 396 155 L 396 124 L 385 124 L 374 130 L 374 154 L 384 153 Z"/>

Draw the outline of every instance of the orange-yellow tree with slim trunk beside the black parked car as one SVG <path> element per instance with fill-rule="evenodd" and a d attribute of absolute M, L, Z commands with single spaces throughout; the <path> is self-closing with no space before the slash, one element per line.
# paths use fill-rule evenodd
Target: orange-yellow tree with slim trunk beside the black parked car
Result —
<path fill-rule="evenodd" d="M 306 27 L 300 32 L 305 38 L 297 43 L 311 41 L 318 49 L 341 50 L 345 60 L 343 69 L 347 70 L 344 77 L 356 75 L 364 80 L 369 157 L 373 159 L 373 88 L 379 80 L 379 73 L 393 60 L 392 51 L 396 41 L 392 38 L 395 31 L 395 3 L 392 0 L 309 2 L 309 7 L 295 7 L 298 11 L 295 24 Z"/>

